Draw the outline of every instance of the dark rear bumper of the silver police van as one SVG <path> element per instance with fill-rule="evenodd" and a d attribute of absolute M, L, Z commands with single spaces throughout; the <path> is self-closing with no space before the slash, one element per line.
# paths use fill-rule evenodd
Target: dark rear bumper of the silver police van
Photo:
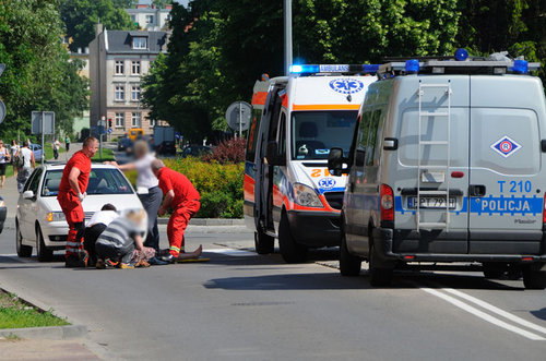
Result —
<path fill-rule="evenodd" d="M 390 228 L 373 229 L 373 244 L 378 255 L 384 261 L 404 262 L 510 262 L 533 263 L 546 262 L 546 254 L 486 254 L 486 253 L 419 253 L 393 252 L 394 230 Z M 514 241 L 518 242 L 518 241 Z M 544 241 L 543 241 L 544 242 Z"/>

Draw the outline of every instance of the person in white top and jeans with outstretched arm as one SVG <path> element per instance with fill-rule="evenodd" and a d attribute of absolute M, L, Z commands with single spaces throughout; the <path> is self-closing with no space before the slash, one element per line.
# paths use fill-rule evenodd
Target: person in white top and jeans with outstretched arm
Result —
<path fill-rule="evenodd" d="M 105 164 L 116 166 L 123 171 L 136 169 L 136 193 L 147 213 L 147 237 L 144 245 L 158 251 L 159 230 L 157 228 L 157 213 L 162 205 L 163 193 L 158 185 L 159 181 L 152 171 L 152 161 L 156 158 L 150 153 L 150 147 L 145 141 L 136 141 L 134 143 L 134 157 L 136 158 L 135 161 L 124 165 L 118 165 L 116 161 L 106 161 Z"/>

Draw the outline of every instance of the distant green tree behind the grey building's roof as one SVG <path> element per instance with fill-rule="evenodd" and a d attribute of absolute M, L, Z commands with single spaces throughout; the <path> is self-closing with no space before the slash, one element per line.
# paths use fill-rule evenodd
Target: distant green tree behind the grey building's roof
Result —
<path fill-rule="evenodd" d="M 102 23 L 107 29 L 135 29 L 124 10 L 133 4 L 129 0 L 61 0 L 60 13 L 72 38 L 70 49 L 84 48 L 95 37 L 95 26 Z"/>

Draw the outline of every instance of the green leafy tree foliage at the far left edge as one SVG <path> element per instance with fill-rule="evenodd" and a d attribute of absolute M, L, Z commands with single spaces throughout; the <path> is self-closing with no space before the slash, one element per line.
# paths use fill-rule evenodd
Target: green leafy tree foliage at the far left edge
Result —
<path fill-rule="evenodd" d="M 78 75 L 61 44 L 58 0 L 0 0 L 0 96 L 7 117 L 0 136 L 29 134 L 32 110 L 56 112 L 57 129 L 72 130 L 72 118 L 87 107 L 87 81 Z"/>

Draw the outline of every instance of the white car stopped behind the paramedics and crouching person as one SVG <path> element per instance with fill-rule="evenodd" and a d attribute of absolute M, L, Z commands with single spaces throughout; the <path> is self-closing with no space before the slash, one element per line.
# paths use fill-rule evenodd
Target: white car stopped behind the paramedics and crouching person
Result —
<path fill-rule="evenodd" d="M 49 261 L 55 250 L 66 248 L 69 227 L 57 201 L 63 169 L 64 165 L 37 167 L 25 183 L 15 216 L 15 242 L 20 257 L 29 257 L 33 248 L 36 248 L 38 261 Z M 85 219 L 88 220 L 106 203 L 112 204 L 119 214 L 144 209 L 131 183 L 119 169 L 94 164 L 87 196 L 82 203 Z M 147 218 L 143 225 L 147 225 Z"/>

